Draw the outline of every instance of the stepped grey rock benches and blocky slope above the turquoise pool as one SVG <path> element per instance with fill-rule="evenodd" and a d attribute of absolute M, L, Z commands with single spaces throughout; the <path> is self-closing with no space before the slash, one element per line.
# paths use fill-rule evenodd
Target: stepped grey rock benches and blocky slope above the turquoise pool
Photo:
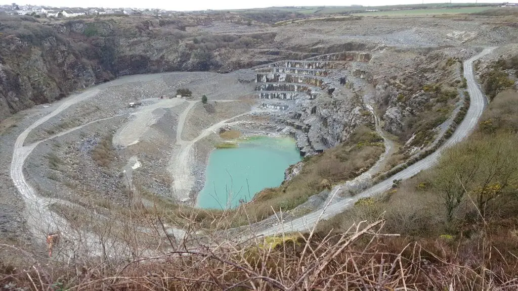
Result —
<path fill-rule="evenodd" d="M 346 52 L 268 64 L 256 69 L 257 96 L 265 100 L 263 108 L 280 108 L 277 101 L 269 105 L 267 99 L 280 99 L 287 105 L 283 110 L 290 113 L 283 122 L 301 155 L 322 153 L 349 138 L 359 125 L 373 123 L 370 114 L 362 114 L 363 102 L 353 100 L 356 93 L 337 91 L 346 87 L 346 75 L 350 75 L 346 68 L 371 57 Z M 297 174 L 297 167 L 286 172 L 287 180 Z"/>

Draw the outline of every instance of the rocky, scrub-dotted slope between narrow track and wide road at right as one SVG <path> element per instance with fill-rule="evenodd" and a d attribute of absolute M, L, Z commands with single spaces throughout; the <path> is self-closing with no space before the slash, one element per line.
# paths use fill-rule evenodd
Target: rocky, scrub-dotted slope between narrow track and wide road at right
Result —
<path fill-rule="evenodd" d="M 406 60 L 392 63 L 391 54 L 375 60 L 376 74 L 365 76 L 376 82 L 383 128 L 398 136 L 405 145 L 401 152 L 410 155 L 432 147 L 463 106 L 462 60 L 448 49 L 405 51 Z"/>

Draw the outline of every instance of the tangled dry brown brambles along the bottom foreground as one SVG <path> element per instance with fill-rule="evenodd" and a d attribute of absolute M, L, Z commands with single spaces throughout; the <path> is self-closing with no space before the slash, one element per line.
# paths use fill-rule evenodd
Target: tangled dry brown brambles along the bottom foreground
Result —
<path fill-rule="evenodd" d="M 268 237 L 214 248 L 174 248 L 131 261 L 87 260 L 77 266 L 50 261 L 25 270 L 0 264 L 5 289 L 50 290 L 314 290 L 444 289 L 469 284 L 469 271 L 458 279 L 433 280 L 448 263 L 427 266 L 433 258 L 419 245 L 388 253 L 382 243 L 383 221 L 352 226 L 339 236 Z M 171 243 L 172 244 L 172 243 Z M 381 250 L 381 252 L 380 252 Z M 13 253 L 18 250 L 12 250 Z M 20 253 L 22 259 L 28 254 Z M 70 264 L 69 264 L 70 265 Z M 452 266 L 456 267 L 456 266 Z M 464 282 L 467 279 L 467 282 Z M 478 278 L 476 278 L 478 279 Z"/>

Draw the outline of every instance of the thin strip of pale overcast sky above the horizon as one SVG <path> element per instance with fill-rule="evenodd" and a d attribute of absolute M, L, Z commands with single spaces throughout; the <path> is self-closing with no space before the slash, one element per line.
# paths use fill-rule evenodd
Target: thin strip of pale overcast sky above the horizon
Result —
<path fill-rule="evenodd" d="M 516 0 L 518 1 L 518 0 Z M 363 6 L 393 5 L 393 4 L 420 4 L 422 0 L 0 0 L 0 3 L 32 4 L 56 7 L 131 7 L 131 8 L 163 8 L 167 10 L 205 10 L 205 9 L 242 9 L 263 8 L 271 6 L 347 6 L 361 4 Z M 425 0 L 425 3 L 446 3 L 445 0 Z M 470 3 L 474 0 L 452 0 L 452 3 Z M 513 0 L 480 0 L 484 3 L 515 2 Z"/>

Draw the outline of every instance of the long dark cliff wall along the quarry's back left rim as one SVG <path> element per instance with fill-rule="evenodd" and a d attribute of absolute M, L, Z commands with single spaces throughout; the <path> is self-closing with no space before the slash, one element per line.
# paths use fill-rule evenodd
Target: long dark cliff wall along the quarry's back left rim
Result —
<path fill-rule="evenodd" d="M 163 71 L 229 71 L 257 65 L 261 60 L 244 58 L 241 62 L 235 56 L 275 38 L 275 33 L 202 36 L 189 30 L 206 22 L 203 18 L 37 20 L 3 16 L 0 19 L 0 121 L 12 113 L 50 103 L 118 76 Z M 286 58 L 283 53 L 268 57 Z"/>

